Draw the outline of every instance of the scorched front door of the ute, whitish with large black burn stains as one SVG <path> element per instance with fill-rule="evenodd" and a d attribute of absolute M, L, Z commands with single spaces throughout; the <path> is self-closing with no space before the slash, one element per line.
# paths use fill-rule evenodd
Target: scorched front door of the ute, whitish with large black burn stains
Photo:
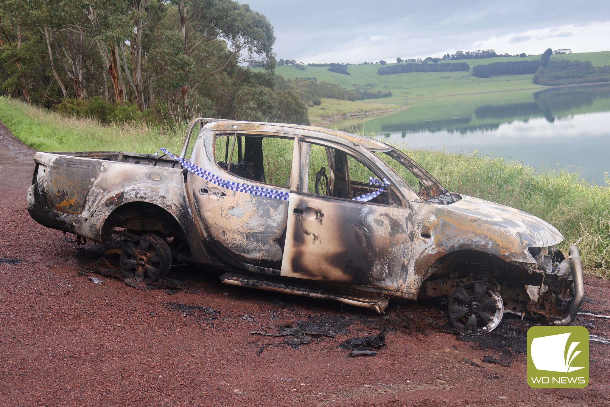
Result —
<path fill-rule="evenodd" d="M 349 174 L 340 177 L 345 168 L 337 165 L 337 151 L 336 162 L 327 163 L 337 177 L 334 187 L 340 188 L 339 179 L 351 186 L 330 195 L 353 195 L 361 182 L 350 181 Z M 301 149 L 301 165 L 312 167 L 304 156 L 309 153 Z M 290 192 L 282 276 L 403 289 L 411 254 L 410 209 L 307 193 L 313 189 L 306 180 L 299 189 Z"/>

